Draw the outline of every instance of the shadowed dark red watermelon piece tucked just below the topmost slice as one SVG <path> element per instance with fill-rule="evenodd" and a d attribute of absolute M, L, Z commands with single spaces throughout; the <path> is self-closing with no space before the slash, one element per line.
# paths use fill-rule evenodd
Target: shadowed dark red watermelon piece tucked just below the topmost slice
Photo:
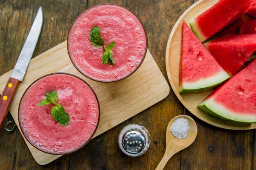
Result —
<path fill-rule="evenodd" d="M 216 37 L 220 37 L 226 34 L 238 34 L 240 26 L 248 23 L 249 21 L 253 20 L 253 18 L 249 17 L 248 15 L 244 14 L 239 20 L 237 20 L 233 25 L 228 27 L 227 29 L 220 32 Z"/>

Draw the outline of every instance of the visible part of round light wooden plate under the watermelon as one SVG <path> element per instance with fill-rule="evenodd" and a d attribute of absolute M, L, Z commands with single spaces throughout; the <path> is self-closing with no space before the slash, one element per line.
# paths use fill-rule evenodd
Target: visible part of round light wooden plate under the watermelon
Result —
<path fill-rule="evenodd" d="M 166 46 L 166 70 L 167 75 L 180 102 L 196 117 L 212 124 L 216 127 L 221 127 L 230 130 L 249 130 L 255 129 L 256 123 L 253 124 L 241 124 L 229 121 L 223 121 L 207 115 L 201 111 L 197 106 L 204 100 L 212 91 L 198 93 L 198 94 L 180 94 L 179 93 L 179 63 L 180 63 L 180 43 L 181 43 L 181 26 L 183 20 L 189 23 L 190 20 L 203 13 L 205 10 L 213 6 L 218 0 L 199 0 L 189 7 L 177 20 L 172 32 L 169 36 L 169 40 Z"/>

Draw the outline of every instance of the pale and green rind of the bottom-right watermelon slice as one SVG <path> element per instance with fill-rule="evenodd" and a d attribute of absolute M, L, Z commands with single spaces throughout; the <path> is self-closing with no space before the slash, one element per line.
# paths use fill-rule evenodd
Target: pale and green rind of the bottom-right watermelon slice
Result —
<path fill-rule="evenodd" d="M 224 105 L 218 104 L 213 98 L 207 98 L 202 101 L 198 107 L 215 118 L 225 121 L 233 121 L 239 123 L 256 123 L 256 117 L 246 115 L 244 113 L 236 113 L 227 109 Z"/>

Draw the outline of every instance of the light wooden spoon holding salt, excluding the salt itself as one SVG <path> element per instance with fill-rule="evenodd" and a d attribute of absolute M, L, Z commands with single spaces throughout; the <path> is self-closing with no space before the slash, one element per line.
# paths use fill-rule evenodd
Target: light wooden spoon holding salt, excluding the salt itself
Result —
<path fill-rule="evenodd" d="M 178 139 L 178 138 L 174 137 L 174 135 L 172 135 L 172 132 L 170 131 L 172 123 L 177 118 L 185 118 L 186 120 L 189 121 L 189 127 L 190 127 L 189 133 L 186 136 L 186 138 L 184 138 L 184 139 L 183 138 Z M 197 126 L 196 126 L 195 121 L 190 116 L 179 115 L 179 116 L 176 116 L 175 118 L 173 118 L 169 122 L 167 130 L 166 130 L 166 152 L 164 153 L 162 160 L 157 165 L 156 170 L 163 170 L 166 163 L 169 161 L 169 159 L 175 153 L 179 152 L 180 150 L 185 149 L 186 147 L 188 147 L 195 141 L 196 135 L 197 135 Z"/>

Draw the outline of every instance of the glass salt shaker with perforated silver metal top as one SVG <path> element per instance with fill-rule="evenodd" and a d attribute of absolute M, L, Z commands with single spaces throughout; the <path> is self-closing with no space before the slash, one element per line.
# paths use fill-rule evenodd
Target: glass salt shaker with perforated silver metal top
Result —
<path fill-rule="evenodd" d="M 150 146 L 148 130 L 139 124 L 128 124 L 118 135 L 119 148 L 128 156 L 141 156 Z"/>

